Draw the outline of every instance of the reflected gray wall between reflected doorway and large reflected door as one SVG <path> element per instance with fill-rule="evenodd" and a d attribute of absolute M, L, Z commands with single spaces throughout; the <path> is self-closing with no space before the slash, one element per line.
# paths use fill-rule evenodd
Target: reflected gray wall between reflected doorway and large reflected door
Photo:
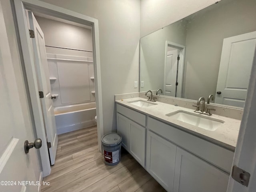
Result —
<path fill-rule="evenodd" d="M 223 39 L 256 30 L 255 0 L 226 0 L 216 6 L 188 22 L 182 98 L 215 95 Z"/>

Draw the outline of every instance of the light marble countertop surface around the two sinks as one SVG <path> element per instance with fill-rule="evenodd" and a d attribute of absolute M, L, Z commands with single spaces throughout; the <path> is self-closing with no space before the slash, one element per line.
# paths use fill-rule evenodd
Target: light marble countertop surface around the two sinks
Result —
<path fill-rule="evenodd" d="M 129 103 L 131 101 L 136 101 L 136 100 L 146 101 L 146 99 L 144 98 L 136 97 L 136 98 L 129 98 L 124 100 L 116 100 L 116 103 L 126 106 L 128 108 L 131 108 L 133 110 L 136 110 L 138 112 L 141 112 L 143 114 L 146 114 L 148 116 L 151 116 L 153 118 L 156 118 L 158 120 L 161 120 L 162 122 L 165 122 L 183 131 L 189 132 L 200 138 L 203 138 L 205 140 L 208 140 L 210 142 L 213 142 L 215 144 L 228 148 L 232 151 L 234 151 L 236 148 L 236 142 L 237 142 L 238 132 L 239 132 L 240 123 L 241 123 L 240 120 L 219 116 L 216 114 L 212 114 L 212 116 L 206 116 L 203 114 L 195 113 L 193 109 L 174 106 L 171 104 L 166 104 L 166 103 L 157 102 L 157 101 L 154 102 L 154 104 L 157 104 L 157 105 L 153 105 L 149 107 L 139 107 Z M 186 112 L 198 114 L 199 116 L 202 116 L 204 118 L 214 118 L 217 120 L 224 121 L 224 123 L 221 124 L 216 130 L 210 131 L 210 130 L 205 130 L 203 128 L 199 128 L 197 126 L 193 126 L 186 122 L 182 122 L 175 118 L 166 116 L 166 114 L 176 112 L 178 110 L 183 110 Z"/>

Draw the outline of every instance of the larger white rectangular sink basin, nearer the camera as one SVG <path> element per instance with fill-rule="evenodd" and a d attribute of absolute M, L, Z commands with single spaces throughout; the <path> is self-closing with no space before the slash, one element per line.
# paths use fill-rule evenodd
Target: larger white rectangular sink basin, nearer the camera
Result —
<path fill-rule="evenodd" d="M 224 123 L 222 120 L 204 117 L 200 114 L 194 114 L 182 110 L 166 114 L 166 116 L 210 131 L 215 131 Z"/>

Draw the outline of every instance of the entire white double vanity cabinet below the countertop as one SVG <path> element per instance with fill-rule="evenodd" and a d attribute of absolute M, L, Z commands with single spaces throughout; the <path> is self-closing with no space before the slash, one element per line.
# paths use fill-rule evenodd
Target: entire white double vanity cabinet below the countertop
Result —
<path fill-rule="evenodd" d="M 226 192 L 233 151 L 122 105 L 116 109 L 122 146 L 168 192 Z"/>

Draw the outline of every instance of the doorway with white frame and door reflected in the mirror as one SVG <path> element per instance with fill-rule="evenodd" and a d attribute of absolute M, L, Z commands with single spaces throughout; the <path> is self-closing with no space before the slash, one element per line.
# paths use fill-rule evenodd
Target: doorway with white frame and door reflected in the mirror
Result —
<path fill-rule="evenodd" d="M 182 96 L 185 46 L 166 41 L 164 62 L 164 95 Z"/>

